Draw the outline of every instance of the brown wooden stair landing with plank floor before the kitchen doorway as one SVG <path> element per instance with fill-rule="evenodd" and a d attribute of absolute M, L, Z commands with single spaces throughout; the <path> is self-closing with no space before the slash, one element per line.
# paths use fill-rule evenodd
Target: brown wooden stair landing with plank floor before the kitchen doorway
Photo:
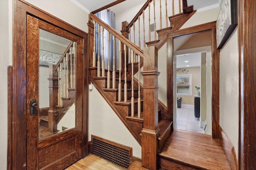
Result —
<path fill-rule="evenodd" d="M 182 130 L 174 130 L 166 140 L 158 163 L 166 170 L 231 170 L 218 139 Z"/>

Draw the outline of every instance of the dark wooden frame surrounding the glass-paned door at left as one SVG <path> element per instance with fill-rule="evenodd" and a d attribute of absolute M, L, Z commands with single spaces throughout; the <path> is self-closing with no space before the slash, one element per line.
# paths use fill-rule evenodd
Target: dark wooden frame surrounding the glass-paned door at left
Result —
<path fill-rule="evenodd" d="M 13 0 L 13 70 L 12 70 L 12 131 L 8 129 L 9 139 L 8 150 L 12 153 L 8 156 L 8 169 L 26 169 L 26 16 L 34 16 L 48 23 L 54 23 L 56 27 L 64 29 L 84 39 L 84 70 L 82 84 L 82 157 L 88 155 L 88 33 L 62 21 L 47 12 L 29 4 L 24 0 Z M 10 116 L 9 116 L 10 117 Z"/>

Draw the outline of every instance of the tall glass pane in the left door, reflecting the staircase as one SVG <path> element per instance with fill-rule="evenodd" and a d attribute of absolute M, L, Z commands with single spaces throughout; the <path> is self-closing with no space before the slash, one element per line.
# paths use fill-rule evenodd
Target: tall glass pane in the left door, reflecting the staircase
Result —
<path fill-rule="evenodd" d="M 40 29 L 39 140 L 75 127 L 75 63 L 75 42 Z"/>

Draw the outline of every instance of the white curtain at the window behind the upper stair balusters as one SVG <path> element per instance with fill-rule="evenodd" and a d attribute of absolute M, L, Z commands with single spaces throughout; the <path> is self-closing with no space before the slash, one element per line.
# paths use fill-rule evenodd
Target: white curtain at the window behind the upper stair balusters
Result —
<path fill-rule="evenodd" d="M 102 21 L 107 23 L 113 29 L 116 29 L 115 13 L 110 10 L 103 10 L 95 14 Z M 104 29 L 104 42 L 102 42 L 102 28 L 100 27 L 100 37 L 98 37 L 98 23 L 95 29 L 96 39 L 96 57 L 98 57 L 98 38 L 100 38 L 100 61 L 102 61 L 102 43 L 104 43 L 104 61 L 105 68 L 108 68 L 108 31 Z M 98 59 L 97 59 L 98 60 Z M 113 69 L 113 36 L 110 35 L 110 69 Z"/>

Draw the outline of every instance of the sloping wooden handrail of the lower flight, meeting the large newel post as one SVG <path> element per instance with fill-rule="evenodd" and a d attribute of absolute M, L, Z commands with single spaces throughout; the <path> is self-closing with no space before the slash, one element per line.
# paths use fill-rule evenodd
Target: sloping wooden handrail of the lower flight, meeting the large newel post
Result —
<path fill-rule="evenodd" d="M 122 43 L 124 43 L 126 46 L 128 46 L 130 49 L 132 49 L 132 51 L 134 51 L 135 53 L 137 53 L 140 57 L 143 57 L 143 50 L 140 49 L 139 47 L 137 47 L 134 43 L 132 43 L 129 39 L 127 39 L 126 37 L 124 37 L 123 35 L 120 35 L 120 33 L 118 33 L 116 30 L 114 30 L 112 27 L 110 27 L 108 24 L 106 24 L 105 22 L 103 22 L 102 20 L 100 20 L 100 18 L 98 18 L 97 16 L 95 16 L 94 14 L 90 13 L 90 17 L 92 18 L 92 20 L 94 20 L 95 22 L 97 22 L 98 24 L 100 24 L 100 26 L 104 27 L 104 29 L 108 30 L 108 32 L 110 32 L 112 35 L 114 35 L 119 41 L 121 41 Z"/>

